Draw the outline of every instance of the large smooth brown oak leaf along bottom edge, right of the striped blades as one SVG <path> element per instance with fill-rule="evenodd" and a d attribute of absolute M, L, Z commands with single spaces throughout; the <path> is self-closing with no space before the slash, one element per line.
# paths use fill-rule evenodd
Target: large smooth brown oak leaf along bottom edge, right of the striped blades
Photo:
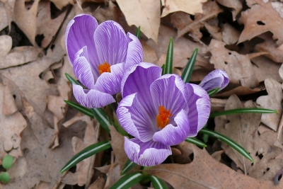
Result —
<path fill-rule="evenodd" d="M 193 146 L 190 164 L 161 164 L 147 173 L 158 176 L 173 188 L 279 188 L 272 181 L 255 179 L 233 171 L 210 156 L 205 149 Z"/>

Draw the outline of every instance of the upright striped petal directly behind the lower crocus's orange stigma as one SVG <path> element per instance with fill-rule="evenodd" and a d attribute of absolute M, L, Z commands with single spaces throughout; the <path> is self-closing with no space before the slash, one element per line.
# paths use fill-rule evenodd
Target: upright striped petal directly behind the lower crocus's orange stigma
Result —
<path fill-rule="evenodd" d="M 180 76 L 175 74 L 163 75 L 151 84 L 150 91 L 156 115 L 158 115 L 158 108 L 161 105 L 166 110 L 171 110 L 172 118 L 182 109 L 188 112 L 186 101 L 188 98 L 187 88 L 185 88 L 185 84 Z M 170 123 L 173 124 L 173 119 L 171 119 Z"/>

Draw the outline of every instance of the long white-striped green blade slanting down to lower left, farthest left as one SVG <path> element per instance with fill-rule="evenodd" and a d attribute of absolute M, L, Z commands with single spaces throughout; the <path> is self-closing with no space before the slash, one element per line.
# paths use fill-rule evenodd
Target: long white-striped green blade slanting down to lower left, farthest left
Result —
<path fill-rule="evenodd" d="M 65 171 L 69 170 L 69 168 L 72 168 L 73 166 L 76 166 L 76 164 L 79 164 L 79 162 L 83 161 L 83 159 L 93 156 L 94 154 L 97 154 L 98 152 L 103 151 L 105 149 L 110 149 L 110 147 L 111 144 L 109 141 L 91 144 L 90 146 L 80 151 L 78 154 L 74 155 L 68 161 L 68 163 L 61 169 L 60 173 L 64 173 Z"/>

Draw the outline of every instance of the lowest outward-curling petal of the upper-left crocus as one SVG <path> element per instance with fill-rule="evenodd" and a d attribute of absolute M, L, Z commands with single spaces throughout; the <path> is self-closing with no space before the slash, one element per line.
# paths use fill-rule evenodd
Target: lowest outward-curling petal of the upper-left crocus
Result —
<path fill-rule="evenodd" d="M 76 101 L 86 108 L 101 108 L 110 103 L 114 103 L 114 98 L 108 93 L 102 93 L 94 89 L 83 90 L 79 85 L 73 84 L 73 93 Z"/>

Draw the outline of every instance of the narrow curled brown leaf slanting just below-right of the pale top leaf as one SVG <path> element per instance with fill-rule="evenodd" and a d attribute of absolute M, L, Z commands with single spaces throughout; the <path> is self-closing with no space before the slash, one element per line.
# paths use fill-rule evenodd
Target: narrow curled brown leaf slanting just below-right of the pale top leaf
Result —
<path fill-rule="evenodd" d="M 178 30 L 177 38 L 180 38 L 187 32 L 192 32 L 194 30 L 200 30 L 203 27 L 204 21 L 212 18 L 216 18 L 219 13 L 221 13 L 221 8 L 216 3 L 216 1 L 207 1 L 202 5 L 203 13 L 196 13 L 195 20 L 185 26 L 185 28 Z M 193 32 L 192 32 L 193 33 Z M 200 40 L 202 35 L 198 36 L 197 39 Z"/>

